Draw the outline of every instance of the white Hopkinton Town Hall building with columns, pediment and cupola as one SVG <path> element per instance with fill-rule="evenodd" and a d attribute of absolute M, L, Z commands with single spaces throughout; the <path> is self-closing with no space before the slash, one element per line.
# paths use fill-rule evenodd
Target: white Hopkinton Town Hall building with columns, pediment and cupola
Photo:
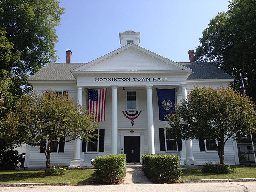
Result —
<path fill-rule="evenodd" d="M 194 85 L 228 86 L 234 78 L 210 62 L 174 62 L 139 46 L 140 33 L 119 33 L 121 47 L 89 63 L 50 63 L 28 79 L 34 90 L 68 92 L 79 104 L 88 106 L 91 89 L 107 89 L 99 137 L 92 142 L 76 140 L 58 146 L 51 154 L 51 166 L 89 166 L 96 156 L 127 154 L 128 162 L 140 162 L 141 154 L 174 154 L 182 165 L 219 162 L 211 141 L 175 142 L 159 120 L 156 89 L 174 90 L 175 103 L 187 97 Z M 90 99 L 92 100 L 92 99 Z M 165 103 L 166 108 L 172 103 Z M 164 107 L 164 106 L 163 106 Z M 133 125 L 132 125 L 133 124 Z M 226 164 L 239 164 L 236 142 L 225 145 Z M 25 167 L 44 167 L 46 158 L 39 147 L 27 147 Z"/>

